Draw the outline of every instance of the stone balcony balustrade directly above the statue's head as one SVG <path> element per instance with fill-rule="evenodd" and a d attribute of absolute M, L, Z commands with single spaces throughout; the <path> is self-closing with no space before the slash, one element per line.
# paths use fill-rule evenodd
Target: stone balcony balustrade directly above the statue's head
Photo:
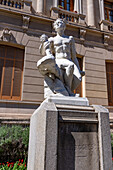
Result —
<path fill-rule="evenodd" d="M 66 18 L 66 20 L 68 20 L 69 22 L 85 24 L 86 16 L 83 14 L 67 11 L 58 7 L 52 7 L 50 12 L 51 12 L 51 17 L 54 19 Z"/>

